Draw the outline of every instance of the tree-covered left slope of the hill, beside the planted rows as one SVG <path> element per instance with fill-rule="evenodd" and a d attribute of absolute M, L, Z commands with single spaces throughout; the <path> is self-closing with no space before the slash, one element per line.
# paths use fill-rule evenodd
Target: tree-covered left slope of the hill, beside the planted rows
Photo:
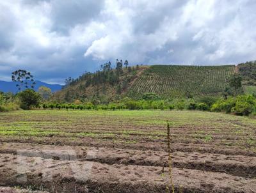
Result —
<path fill-rule="evenodd" d="M 124 95 L 148 66 L 127 66 L 118 61 L 116 68 L 105 63 L 95 73 L 86 72 L 78 79 L 67 80 L 67 86 L 54 94 L 54 100 L 72 102 L 76 99 L 109 102 Z"/>

